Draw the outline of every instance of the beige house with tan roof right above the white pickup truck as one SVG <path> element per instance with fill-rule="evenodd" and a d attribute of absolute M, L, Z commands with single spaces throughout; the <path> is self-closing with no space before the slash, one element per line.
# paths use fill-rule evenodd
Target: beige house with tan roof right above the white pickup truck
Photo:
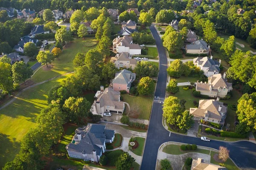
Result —
<path fill-rule="evenodd" d="M 223 126 L 227 117 L 227 107 L 219 101 L 219 98 L 217 100 L 199 100 L 198 108 L 190 108 L 189 113 L 194 116 L 195 120 L 203 119 Z"/>

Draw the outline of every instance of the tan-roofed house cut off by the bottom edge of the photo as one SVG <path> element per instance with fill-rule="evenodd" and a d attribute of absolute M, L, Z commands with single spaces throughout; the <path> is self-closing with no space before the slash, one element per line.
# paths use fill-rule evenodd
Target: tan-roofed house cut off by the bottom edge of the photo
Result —
<path fill-rule="evenodd" d="M 191 170 L 227 170 L 227 168 L 204 162 L 204 159 L 198 158 L 197 160 L 193 159 Z"/>

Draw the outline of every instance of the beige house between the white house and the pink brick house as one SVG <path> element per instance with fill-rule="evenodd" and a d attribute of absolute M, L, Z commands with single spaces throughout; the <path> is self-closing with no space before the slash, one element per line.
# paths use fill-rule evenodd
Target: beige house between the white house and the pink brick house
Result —
<path fill-rule="evenodd" d="M 113 63 L 116 68 L 131 68 L 134 69 L 137 65 L 137 60 L 135 58 L 131 58 L 128 52 L 121 52 L 116 54 Z"/>

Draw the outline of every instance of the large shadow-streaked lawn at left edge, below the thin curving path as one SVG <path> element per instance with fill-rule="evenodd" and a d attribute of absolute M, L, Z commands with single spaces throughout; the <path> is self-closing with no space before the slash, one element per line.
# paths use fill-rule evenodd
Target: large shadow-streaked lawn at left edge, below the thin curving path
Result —
<path fill-rule="evenodd" d="M 23 92 L 12 104 L 0 110 L 0 168 L 12 161 L 20 151 L 20 141 L 35 127 L 35 118 L 48 106 L 47 95 L 52 86 L 70 75 L 35 86 Z"/>

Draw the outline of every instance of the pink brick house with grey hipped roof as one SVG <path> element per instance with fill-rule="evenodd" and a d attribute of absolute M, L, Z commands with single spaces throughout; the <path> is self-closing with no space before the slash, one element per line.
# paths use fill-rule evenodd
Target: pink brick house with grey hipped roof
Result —
<path fill-rule="evenodd" d="M 111 83 L 111 87 L 115 91 L 126 90 L 126 92 L 130 92 L 131 83 L 135 80 L 136 74 L 128 71 L 127 69 L 123 69 L 119 72 L 116 72 L 115 78 Z"/>

